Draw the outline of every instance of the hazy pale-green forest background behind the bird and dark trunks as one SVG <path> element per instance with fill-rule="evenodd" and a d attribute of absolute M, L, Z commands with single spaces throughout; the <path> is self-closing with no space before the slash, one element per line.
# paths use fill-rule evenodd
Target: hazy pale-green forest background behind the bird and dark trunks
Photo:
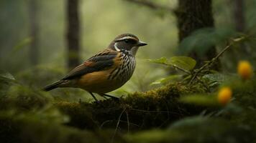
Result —
<path fill-rule="evenodd" d="M 69 71 L 67 3 L 68 1 L 62 0 L 1 0 L 2 70 L 23 79 L 23 82 L 32 82 L 31 80 L 39 78 L 32 82 L 36 87 L 43 87 Z M 211 43 L 214 38 L 223 41 L 237 30 L 255 30 L 256 1 L 242 1 L 242 5 L 237 3 L 239 1 L 212 1 L 214 25 L 219 35 L 199 39 L 199 46 Z M 149 4 L 158 7 L 136 1 L 78 1 L 77 65 L 108 46 L 118 34 L 136 34 L 149 45 L 140 49 L 137 54 L 138 63 L 132 80 L 118 91 L 146 91 L 154 87 L 150 83 L 165 77 L 170 70 L 150 64 L 145 59 L 177 55 L 179 40 L 175 9 L 178 1 L 149 1 Z M 219 44 L 216 43 L 219 40 L 213 42 Z M 238 56 L 255 61 L 255 54 L 251 52 L 254 50 L 246 47 L 244 49 L 245 56 L 240 49 L 234 49 L 230 56 L 225 56 L 221 66 L 224 71 L 234 71 L 235 59 L 240 58 Z M 252 56 L 247 56 L 248 53 Z M 28 78 L 30 81 L 26 81 Z"/>

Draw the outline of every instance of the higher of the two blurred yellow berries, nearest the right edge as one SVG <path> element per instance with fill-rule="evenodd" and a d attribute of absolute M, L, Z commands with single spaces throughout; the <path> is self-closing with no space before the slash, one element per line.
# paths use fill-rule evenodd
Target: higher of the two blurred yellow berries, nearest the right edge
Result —
<path fill-rule="evenodd" d="M 252 66 L 248 61 L 239 61 L 237 72 L 242 79 L 250 79 L 252 77 Z"/>

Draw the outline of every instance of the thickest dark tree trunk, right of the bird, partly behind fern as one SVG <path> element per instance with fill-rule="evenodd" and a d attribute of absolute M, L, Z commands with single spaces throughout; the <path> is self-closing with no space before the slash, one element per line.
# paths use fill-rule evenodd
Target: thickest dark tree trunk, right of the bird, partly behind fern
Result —
<path fill-rule="evenodd" d="M 179 0 L 177 18 L 179 41 L 197 29 L 214 27 L 211 0 Z M 197 65 L 200 65 L 203 61 L 216 56 L 216 49 L 215 47 L 210 48 L 204 56 L 198 55 L 195 51 L 192 51 L 188 56 L 196 59 Z M 218 67 L 214 66 L 214 69 L 218 69 Z"/>

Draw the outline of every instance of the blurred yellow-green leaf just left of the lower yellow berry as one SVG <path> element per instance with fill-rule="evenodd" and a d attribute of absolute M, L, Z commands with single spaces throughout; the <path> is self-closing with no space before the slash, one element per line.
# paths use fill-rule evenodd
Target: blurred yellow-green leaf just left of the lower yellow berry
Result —
<path fill-rule="evenodd" d="M 217 98 L 213 94 L 193 94 L 180 97 L 180 102 L 202 106 L 217 106 Z"/>

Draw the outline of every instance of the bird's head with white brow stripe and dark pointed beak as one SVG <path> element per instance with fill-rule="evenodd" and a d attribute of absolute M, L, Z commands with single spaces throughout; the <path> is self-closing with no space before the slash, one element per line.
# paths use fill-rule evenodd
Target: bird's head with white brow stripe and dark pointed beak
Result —
<path fill-rule="evenodd" d="M 115 51 L 129 51 L 135 56 L 137 49 L 140 46 L 147 45 L 145 42 L 140 41 L 137 36 L 133 34 L 121 34 L 109 44 L 109 48 Z"/>

